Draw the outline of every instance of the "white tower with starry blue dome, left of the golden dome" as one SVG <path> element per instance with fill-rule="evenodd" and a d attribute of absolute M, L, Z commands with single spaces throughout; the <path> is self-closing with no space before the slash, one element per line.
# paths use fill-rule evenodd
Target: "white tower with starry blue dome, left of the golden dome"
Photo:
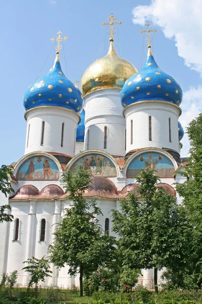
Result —
<path fill-rule="evenodd" d="M 23 102 L 25 154 L 40 150 L 73 157 L 83 100 L 80 90 L 65 77 L 59 52 L 53 68 L 28 88 Z"/>

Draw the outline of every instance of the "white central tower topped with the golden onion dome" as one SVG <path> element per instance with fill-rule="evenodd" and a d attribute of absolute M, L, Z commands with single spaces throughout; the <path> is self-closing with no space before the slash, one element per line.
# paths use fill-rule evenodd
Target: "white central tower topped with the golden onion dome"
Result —
<path fill-rule="evenodd" d="M 85 104 L 84 149 L 98 149 L 113 156 L 125 155 L 126 122 L 120 106 L 120 90 L 136 68 L 120 58 L 110 39 L 108 54 L 83 73 Z"/>

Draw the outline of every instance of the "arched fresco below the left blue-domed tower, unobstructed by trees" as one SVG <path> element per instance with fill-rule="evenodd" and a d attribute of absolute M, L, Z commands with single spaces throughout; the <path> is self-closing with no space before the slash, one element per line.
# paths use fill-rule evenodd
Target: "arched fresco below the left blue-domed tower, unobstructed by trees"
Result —
<path fill-rule="evenodd" d="M 58 166 L 44 156 L 36 156 L 24 162 L 17 173 L 17 180 L 57 180 L 60 177 Z"/>

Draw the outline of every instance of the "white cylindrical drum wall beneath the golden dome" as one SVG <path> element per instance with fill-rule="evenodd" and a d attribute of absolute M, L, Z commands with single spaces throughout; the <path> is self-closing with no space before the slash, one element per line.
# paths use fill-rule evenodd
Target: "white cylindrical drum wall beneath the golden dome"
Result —
<path fill-rule="evenodd" d="M 124 156 L 126 122 L 122 115 L 120 91 L 97 90 L 86 95 L 84 102 L 84 150 L 98 149 L 111 155 Z M 104 149 L 105 126 L 107 126 L 107 148 Z M 87 130 L 89 130 L 89 140 L 86 136 Z"/>

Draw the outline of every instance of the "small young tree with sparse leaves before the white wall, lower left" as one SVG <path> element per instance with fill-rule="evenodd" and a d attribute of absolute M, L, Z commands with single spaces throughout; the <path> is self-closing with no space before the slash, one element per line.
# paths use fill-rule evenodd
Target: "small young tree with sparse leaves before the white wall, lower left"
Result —
<path fill-rule="evenodd" d="M 45 277 L 51 277 L 52 271 L 49 270 L 49 260 L 45 259 L 42 256 L 40 259 L 32 256 L 32 258 L 28 258 L 27 261 L 23 263 L 29 264 L 28 266 L 24 267 L 23 269 L 26 272 L 30 273 L 30 281 L 28 287 L 31 287 L 35 284 L 35 297 L 37 296 L 37 288 L 38 282 L 42 281 L 45 282 Z"/>

